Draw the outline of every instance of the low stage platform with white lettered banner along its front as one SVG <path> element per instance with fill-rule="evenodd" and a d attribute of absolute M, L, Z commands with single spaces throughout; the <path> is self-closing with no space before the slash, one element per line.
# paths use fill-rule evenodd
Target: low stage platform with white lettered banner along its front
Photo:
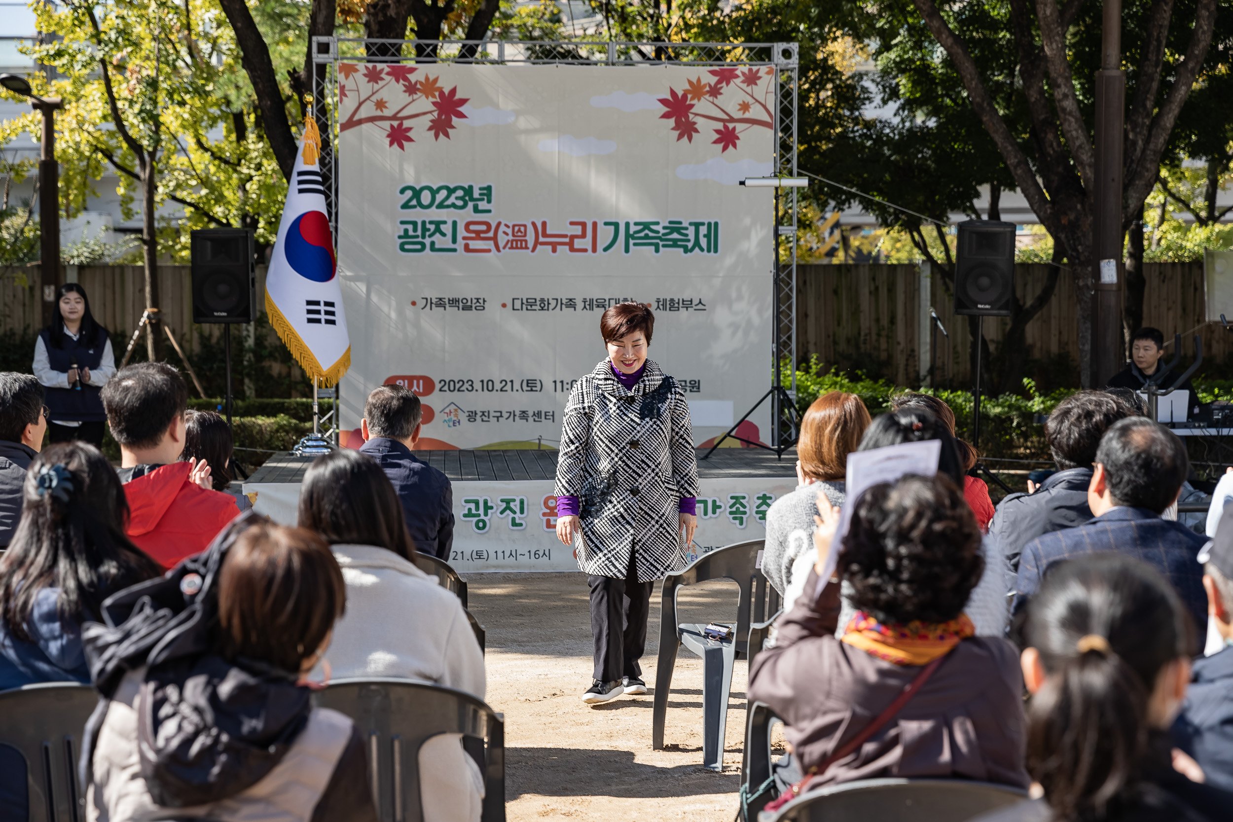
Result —
<path fill-rule="evenodd" d="M 716 449 L 700 458 L 698 532 L 687 558 L 762 539 L 766 513 L 797 487 L 797 451 Z M 454 545 L 459 571 L 577 571 L 556 540 L 556 456 L 552 450 L 416 451 L 454 486 Z M 279 452 L 244 481 L 258 511 L 293 525 L 300 483 L 314 457 Z"/>

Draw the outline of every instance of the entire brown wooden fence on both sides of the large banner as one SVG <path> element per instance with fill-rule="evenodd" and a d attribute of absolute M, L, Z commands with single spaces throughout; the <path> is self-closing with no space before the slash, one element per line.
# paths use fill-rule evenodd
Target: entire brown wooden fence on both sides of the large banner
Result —
<path fill-rule="evenodd" d="M 1016 265 L 1015 290 L 1023 303 L 1034 297 L 1048 265 Z M 25 275 L 30 285 L 18 285 Z M 1203 323 L 1203 266 L 1201 262 L 1147 264 L 1144 323 L 1194 334 Z M 70 276 L 72 272 L 70 272 Z M 117 359 L 145 307 L 141 266 L 80 266 L 76 281 L 90 295 L 90 307 L 113 335 Z M 37 292 L 38 267 L 0 270 L 0 332 L 32 330 L 41 325 Z M 189 266 L 159 267 L 164 318 L 186 349 L 196 351 L 202 336 L 213 338 L 219 325 L 192 323 L 192 290 Z M 922 290 L 928 299 L 922 306 Z M 265 304 L 265 267 L 258 267 L 258 306 Z M 941 277 L 922 275 L 916 265 L 803 265 L 798 269 L 798 352 L 817 354 L 824 364 L 856 367 L 899 385 L 919 385 L 928 368 L 928 307 L 949 333 L 937 335 L 936 361 L 940 385 L 965 386 L 969 380 L 968 320 L 956 317 L 952 297 Z M 1010 320 L 989 317 L 985 336 L 996 350 Z M 926 339 L 922 339 L 922 329 Z M 1233 357 L 1233 334 L 1217 325 L 1202 325 L 1203 356 L 1223 361 Z M 1028 356 L 1037 364 L 1064 367 L 1065 357 L 1078 356 L 1078 318 L 1074 279 L 1063 271 L 1057 291 L 1027 327 Z M 1191 343 L 1182 354 L 1190 357 Z M 922 362 L 924 360 L 924 362 Z M 1060 377 L 1060 375 L 1059 375 Z M 1064 377 L 1062 377 L 1064 378 Z"/>

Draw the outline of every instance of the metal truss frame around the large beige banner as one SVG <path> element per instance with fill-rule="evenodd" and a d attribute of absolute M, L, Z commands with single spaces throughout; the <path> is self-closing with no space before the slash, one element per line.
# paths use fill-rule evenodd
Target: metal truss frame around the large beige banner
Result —
<path fill-rule="evenodd" d="M 338 233 L 338 63 L 473 63 L 561 65 L 760 65 L 776 69 L 776 176 L 797 176 L 797 43 L 655 43 L 614 41 L 414 41 L 313 37 L 313 116 L 322 140 L 322 176 L 330 229 Z M 771 344 L 771 444 L 782 454 L 797 441 L 797 218 L 795 189 L 776 189 L 771 262 L 774 329 Z M 787 370 L 787 373 L 783 371 Z M 766 397 L 763 398 L 766 399 Z M 746 414 L 748 417 L 753 409 Z M 742 418 L 743 420 L 743 418 Z M 730 435 L 732 435 L 730 433 Z M 735 437 L 734 439 L 740 439 Z"/>

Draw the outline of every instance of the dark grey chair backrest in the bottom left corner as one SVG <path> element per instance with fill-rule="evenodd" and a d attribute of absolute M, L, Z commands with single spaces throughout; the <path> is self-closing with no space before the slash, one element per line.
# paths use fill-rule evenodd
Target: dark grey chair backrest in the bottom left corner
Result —
<path fill-rule="evenodd" d="M 99 695 L 76 683 L 0 693 L 0 780 L 25 795 L 28 822 L 85 822 L 81 732 Z M 21 787 L 18 787 L 18 785 Z M 20 813 L 20 810 L 17 811 Z"/>

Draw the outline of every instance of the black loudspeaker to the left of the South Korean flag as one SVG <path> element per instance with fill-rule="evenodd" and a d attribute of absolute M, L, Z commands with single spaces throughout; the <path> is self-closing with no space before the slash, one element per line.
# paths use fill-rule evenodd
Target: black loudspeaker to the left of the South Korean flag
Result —
<path fill-rule="evenodd" d="M 256 319 L 253 232 L 203 228 L 192 232 L 192 322 L 252 323 Z"/>

